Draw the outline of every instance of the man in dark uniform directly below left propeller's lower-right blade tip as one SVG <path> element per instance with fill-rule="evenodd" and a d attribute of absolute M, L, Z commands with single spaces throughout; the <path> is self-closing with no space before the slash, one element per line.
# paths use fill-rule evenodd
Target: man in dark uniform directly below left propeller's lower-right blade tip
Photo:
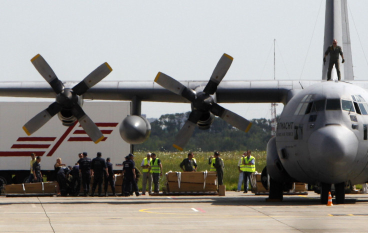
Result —
<path fill-rule="evenodd" d="M 103 181 L 103 170 L 105 170 L 108 175 L 107 166 L 105 159 L 101 158 L 101 152 L 97 152 L 97 157 L 92 159 L 91 168 L 93 175 L 93 184 L 92 184 L 92 193 L 91 196 L 94 196 L 94 190 L 96 190 L 96 186 L 98 184 L 98 196 L 102 196 L 102 181 Z"/>

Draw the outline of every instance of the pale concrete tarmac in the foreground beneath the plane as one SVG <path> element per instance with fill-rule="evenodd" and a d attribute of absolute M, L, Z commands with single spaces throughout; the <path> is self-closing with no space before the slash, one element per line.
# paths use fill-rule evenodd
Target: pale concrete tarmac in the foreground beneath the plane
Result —
<path fill-rule="evenodd" d="M 319 195 L 130 197 L 0 196 L 0 232 L 368 232 L 368 195 L 320 204 Z M 332 198 L 334 202 L 334 198 Z"/>

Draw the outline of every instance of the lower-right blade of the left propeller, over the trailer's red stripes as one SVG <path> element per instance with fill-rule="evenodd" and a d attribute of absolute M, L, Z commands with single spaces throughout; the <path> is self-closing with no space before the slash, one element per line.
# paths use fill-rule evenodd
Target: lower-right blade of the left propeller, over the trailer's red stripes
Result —
<path fill-rule="evenodd" d="M 71 112 L 78 119 L 85 133 L 87 133 L 87 135 L 90 137 L 90 139 L 92 139 L 92 141 L 94 141 L 94 143 L 97 144 L 104 138 L 102 132 L 99 130 L 97 125 L 89 118 L 87 114 L 85 114 L 83 109 L 78 104 L 75 104 L 71 108 Z"/>

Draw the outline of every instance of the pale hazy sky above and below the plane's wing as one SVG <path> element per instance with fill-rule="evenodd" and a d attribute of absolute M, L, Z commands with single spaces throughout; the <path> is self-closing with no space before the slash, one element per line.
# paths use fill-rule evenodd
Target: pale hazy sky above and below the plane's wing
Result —
<path fill-rule="evenodd" d="M 62 81 L 82 80 L 105 61 L 113 71 L 104 80 L 153 81 L 158 71 L 207 80 L 224 52 L 234 60 L 223 80 L 320 79 L 324 9 L 324 0 L 2 0 L 0 81 L 42 81 L 30 62 L 37 53 Z M 348 0 L 357 80 L 368 73 L 362 9 L 368 1 Z M 269 103 L 221 105 L 248 119 L 271 117 Z M 142 103 L 147 117 L 189 110 Z"/>

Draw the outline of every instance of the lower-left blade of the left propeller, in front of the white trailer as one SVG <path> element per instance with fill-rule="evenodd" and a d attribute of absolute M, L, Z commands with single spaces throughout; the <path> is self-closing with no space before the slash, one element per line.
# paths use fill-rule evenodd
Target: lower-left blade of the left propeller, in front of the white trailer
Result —
<path fill-rule="evenodd" d="M 33 118 L 28 120 L 23 125 L 23 130 L 29 136 L 33 132 L 37 131 L 42 125 L 44 125 L 49 119 L 52 118 L 57 112 L 61 110 L 61 105 L 57 102 L 51 103 L 46 109 L 39 112 Z"/>

